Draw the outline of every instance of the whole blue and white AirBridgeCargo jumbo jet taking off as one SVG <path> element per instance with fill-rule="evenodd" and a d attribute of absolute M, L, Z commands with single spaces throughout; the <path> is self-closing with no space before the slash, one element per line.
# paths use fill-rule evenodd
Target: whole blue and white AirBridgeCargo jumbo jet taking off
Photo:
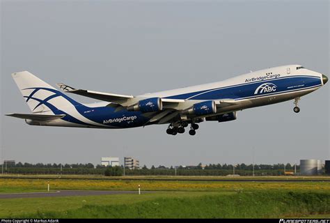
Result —
<path fill-rule="evenodd" d="M 19 91 L 32 114 L 7 114 L 25 119 L 29 125 L 79 128 L 134 128 L 168 124 L 168 134 L 196 134 L 202 121 L 233 121 L 237 111 L 294 100 L 294 112 L 300 111 L 301 96 L 328 82 L 320 72 L 300 65 L 279 66 L 249 72 L 222 82 L 189 86 L 182 89 L 119 95 L 57 84 L 56 90 L 30 72 L 13 73 Z M 65 93 L 101 100 L 81 104 Z"/>

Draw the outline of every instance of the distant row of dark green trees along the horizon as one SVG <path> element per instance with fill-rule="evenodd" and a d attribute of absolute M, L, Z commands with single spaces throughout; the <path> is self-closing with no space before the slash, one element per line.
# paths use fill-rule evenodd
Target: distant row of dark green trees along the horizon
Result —
<path fill-rule="evenodd" d="M 299 171 L 299 166 L 296 167 Z M 29 164 L 21 163 L 7 165 L 4 172 L 7 174 L 81 174 L 81 175 L 105 175 L 105 176 L 226 176 L 228 174 L 239 174 L 241 176 L 283 175 L 285 171 L 293 171 L 291 164 L 209 164 L 203 166 L 198 164 L 189 167 L 159 167 L 152 166 L 150 169 L 143 166 L 140 169 L 124 169 L 121 167 L 103 167 L 88 164 Z"/>

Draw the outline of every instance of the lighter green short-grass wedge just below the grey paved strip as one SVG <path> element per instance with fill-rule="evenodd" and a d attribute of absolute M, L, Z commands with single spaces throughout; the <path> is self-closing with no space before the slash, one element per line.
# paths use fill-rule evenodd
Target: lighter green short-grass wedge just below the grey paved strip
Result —
<path fill-rule="evenodd" d="M 219 192 L 159 192 L 157 194 L 114 194 L 102 196 L 77 196 L 77 197 L 45 197 L 30 199 L 3 199 L 0 202 L 0 217 L 20 216 L 36 213 L 47 213 L 54 210 L 64 213 L 86 205 L 130 205 L 154 199 L 201 197 L 207 194 L 219 194 Z M 223 195 L 233 192 L 223 192 Z M 65 205 L 63 205 L 65 203 Z"/>

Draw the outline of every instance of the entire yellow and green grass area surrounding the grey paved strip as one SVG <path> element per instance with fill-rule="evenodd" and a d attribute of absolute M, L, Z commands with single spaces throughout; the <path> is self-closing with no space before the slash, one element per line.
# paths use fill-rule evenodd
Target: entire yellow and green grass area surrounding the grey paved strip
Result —
<path fill-rule="evenodd" d="M 0 193 L 47 190 L 47 179 L 0 178 Z M 52 190 L 150 194 L 1 199 L 0 217 L 330 217 L 329 182 L 51 179 Z"/>

